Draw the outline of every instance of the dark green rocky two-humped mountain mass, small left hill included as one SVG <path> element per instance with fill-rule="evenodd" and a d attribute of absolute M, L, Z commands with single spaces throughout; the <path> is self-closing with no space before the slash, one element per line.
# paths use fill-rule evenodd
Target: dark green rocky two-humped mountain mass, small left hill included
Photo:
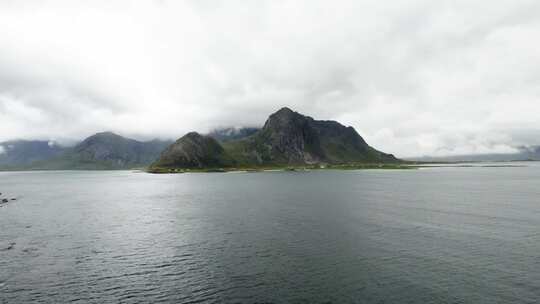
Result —
<path fill-rule="evenodd" d="M 220 144 L 189 133 L 167 148 L 151 170 L 396 162 L 393 155 L 369 146 L 352 127 L 282 108 L 262 129 L 237 140 Z"/>

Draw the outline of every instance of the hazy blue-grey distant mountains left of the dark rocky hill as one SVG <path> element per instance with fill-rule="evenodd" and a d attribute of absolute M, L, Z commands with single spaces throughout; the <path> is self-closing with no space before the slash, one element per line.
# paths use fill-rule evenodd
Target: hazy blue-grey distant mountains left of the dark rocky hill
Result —
<path fill-rule="evenodd" d="M 92 135 L 81 143 L 70 148 L 52 147 L 47 150 L 23 149 L 22 154 L 39 154 L 39 157 L 27 161 L 15 162 L 6 160 L 2 169 L 21 170 L 96 170 L 96 169 L 131 169 L 146 167 L 159 158 L 160 153 L 168 147 L 171 141 L 152 140 L 141 142 L 125 138 L 111 132 Z M 27 148 L 28 146 L 24 146 Z M 9 150 L 8 150 L 9 153 Z M 40 154 L 41 153 L 41 154 Z"/>

